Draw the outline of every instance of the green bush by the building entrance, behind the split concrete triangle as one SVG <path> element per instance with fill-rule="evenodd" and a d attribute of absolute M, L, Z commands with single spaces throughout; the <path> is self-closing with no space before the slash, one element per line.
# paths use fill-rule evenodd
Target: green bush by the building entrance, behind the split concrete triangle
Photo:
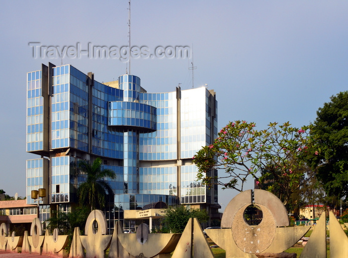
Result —
<path fill-rule="evenodd" d="M 163 220 L 164 229 L 162 229 L 162 232 L 182 233 L 190 218 L 197 218 L 201 223 L 206 222 L 209 217 L 206 211 L 190 209 L 182 205 L 175 207 L 170 206 L 166 209 L 165 218 Z"/>

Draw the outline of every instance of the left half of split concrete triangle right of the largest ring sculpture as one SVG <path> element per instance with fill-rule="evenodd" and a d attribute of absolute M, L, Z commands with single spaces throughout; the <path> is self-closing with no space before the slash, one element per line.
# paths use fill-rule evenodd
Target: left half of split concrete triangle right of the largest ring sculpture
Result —
<path fill-rule="evenodd" d="M 326 258 L 326 214 L 320 216 L 317 225 L 304 247 L 300 258 Z"/>

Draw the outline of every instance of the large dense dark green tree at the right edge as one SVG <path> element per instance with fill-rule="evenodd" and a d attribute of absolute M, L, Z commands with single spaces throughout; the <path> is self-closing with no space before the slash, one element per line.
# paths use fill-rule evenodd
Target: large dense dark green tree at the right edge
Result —
<path fill-rule="evenodd" d="M 328 195 L 348 195 L 348 91 L 331 97 L 317 111 L 311 131 L 317 152 L 309 161 Z"/>

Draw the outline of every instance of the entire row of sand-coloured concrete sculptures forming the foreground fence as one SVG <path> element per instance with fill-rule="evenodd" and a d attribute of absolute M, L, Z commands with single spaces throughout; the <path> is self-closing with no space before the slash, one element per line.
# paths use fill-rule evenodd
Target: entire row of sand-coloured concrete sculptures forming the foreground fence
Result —
<path fill-rule="evenodd" d="M 244 218 L 248 206 L 262 211 L 259 225 L 250 226 Z M 281 201 L 273 194 L 255 189 L 238 194 L 227 205 L 222 217 L 222 229 L 208 230 L 206 233 L 222 249 L 226 258 L 257 258 L 280 255 L 293 246 L 311 227 L 287 227 L 287 212 Z M 53 236 L 46 232 L 42 236 L 41 222 L 34 219 L 30 235 L 24 237 L 6 236 L 7 228 L 0 225 L 0 250 L 18 251 L 66 257 L 63 250 L 68 236 L 59 236 L 55 229 Z M 116 222 L 113 235 L 106 235 L 106 220 L 100 210 L 93 210 L 86 222 L 87 235 L 80 236 L 75 228 L 69 258 L 104 258 L 109 249 L 109 258 L 213 258 L 213 254 L 196 218 L 190 219 L 182 234 L 150 234 L 146 224 L 140 224 L 136 234 L 125 234 L 120 222 Z M 326 257 L 326 217 L 321 216 L 300 258 Z M 330 257 L 348 257 L 348 237 L 335 215 L 330 212 Z"/>

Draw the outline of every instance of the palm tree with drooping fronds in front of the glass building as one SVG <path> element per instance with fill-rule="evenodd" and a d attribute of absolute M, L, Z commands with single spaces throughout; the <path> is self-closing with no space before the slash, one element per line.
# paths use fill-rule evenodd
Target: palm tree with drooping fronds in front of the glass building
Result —
<path fill-rule="evenodd" d="M 78 164 L 78 174 L 86 175 L 86 181 L 78 188 L 79 202 L 80 205 L 89 205 L 90 210 L 104 208 L 107 194 L 114 195 L 105 178 L 115 179 L 116 174 L 112 170 L 101 169 L 101 163 L 101 159 L 96 158 L 92 164 L 87 161 Z"/>

